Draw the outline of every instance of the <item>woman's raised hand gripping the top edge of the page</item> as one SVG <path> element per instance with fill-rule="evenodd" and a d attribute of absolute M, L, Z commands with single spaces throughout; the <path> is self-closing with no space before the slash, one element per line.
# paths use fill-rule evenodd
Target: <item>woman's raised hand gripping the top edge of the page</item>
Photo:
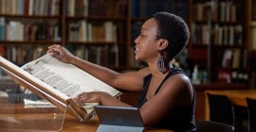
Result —
<path fill-rule="evenodd" d="M 73 59 L 76 58 L 66 48 L 59 44 L 49 46 L 47 53 L 53 58 L 57 58 L 64 63 L 72 63 Z"/>

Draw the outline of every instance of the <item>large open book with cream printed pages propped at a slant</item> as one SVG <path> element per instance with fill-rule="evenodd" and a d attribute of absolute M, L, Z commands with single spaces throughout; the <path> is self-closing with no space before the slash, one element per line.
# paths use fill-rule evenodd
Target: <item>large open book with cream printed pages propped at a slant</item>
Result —
<path fill-rule="evenodd" d="M 105 91 L 114 97 L 121 94 L 91 74 L 48 54 L 22 67 L 0 57 L 0 66 L 27 90 L 40 95 L 56 107 L 60 106 L 60 102 L 66 105 L 67 110 L 80 121 L 90 119 L 97 104 L 79 106 L 73 100 L 78 94 L 88 91 Z"/>

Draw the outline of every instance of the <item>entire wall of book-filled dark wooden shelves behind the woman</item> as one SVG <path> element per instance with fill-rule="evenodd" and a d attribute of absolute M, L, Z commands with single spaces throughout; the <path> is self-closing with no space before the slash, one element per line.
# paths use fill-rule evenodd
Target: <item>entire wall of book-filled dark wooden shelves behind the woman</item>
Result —
<path fill-rule="evenodd" d="M 60 43 L 75 55 L 102 66 L 117 71 L 137 70 L 145 66 L 134 59 L 134 40 L 139 28 L 156 11 L 165 10 L 181 16 L 191 28 L 191 41 L 182 57 L 178 57 L 184 69 L 192 71 L 192 65 L 197 65 L 199 77 L 203 76 L 201 73 L 208 74 L 209 83 L 247 83 L 247 50 L 253 47 L 248 40 L 253 39 L 250 28 L 256 27 L 256 13 L 252 11 L 255 3 L 255 0 L 1 0 L 0 55 L 22 65 L 42 56 L 48 45 Z M 10 24 L 24 27 L 23 36 L 19 37 L 14 29 L 15 36 L 9 36 L 13 34 L 9 33 Z"/>

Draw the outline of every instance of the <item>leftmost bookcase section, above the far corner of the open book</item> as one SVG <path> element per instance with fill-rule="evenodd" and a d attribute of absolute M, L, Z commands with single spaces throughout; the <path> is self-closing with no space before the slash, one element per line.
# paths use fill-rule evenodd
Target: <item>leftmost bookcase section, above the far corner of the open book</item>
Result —
<path fill-rule="evenodd" d="M 15 64 L 38 58 L 47 45 L 62 42 L 60 0 L 1 0 L 0 8 L 0 55 Z"/>

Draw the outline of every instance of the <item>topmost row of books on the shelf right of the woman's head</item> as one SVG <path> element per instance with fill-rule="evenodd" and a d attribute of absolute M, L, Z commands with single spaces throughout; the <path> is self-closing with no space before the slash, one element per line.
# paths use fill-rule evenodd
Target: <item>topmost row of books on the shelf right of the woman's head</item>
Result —
<path fill-rule="evenodd" d="M 193 19 L 195 21 L 220 21 L 236 22 L 239 14 L 242 14 L 240 8 L 232 1 L 208 1 L 204 3 L 195 3 L 193 5 Z"/>

